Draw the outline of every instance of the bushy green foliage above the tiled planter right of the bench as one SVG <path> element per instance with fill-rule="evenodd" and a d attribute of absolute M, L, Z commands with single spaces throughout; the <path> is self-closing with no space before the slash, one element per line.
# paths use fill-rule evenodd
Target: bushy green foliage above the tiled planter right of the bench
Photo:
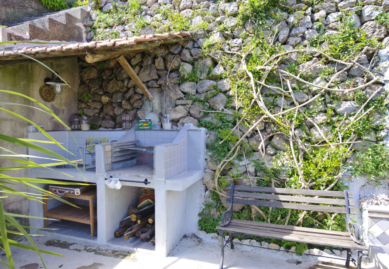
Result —
<path fill-rule="evenodd" d="M 389 149 L 384 143 L 366 148 L 366 152 L 357 152 L 355 161 L 350 165 L 352 175 L 367 175 L 369 180 L 387 179 L 389 171 Z"/>

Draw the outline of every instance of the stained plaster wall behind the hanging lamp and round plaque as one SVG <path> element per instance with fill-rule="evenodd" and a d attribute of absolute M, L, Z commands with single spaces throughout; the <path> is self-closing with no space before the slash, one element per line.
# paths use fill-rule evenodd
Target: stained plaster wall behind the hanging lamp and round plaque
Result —
<path fill-rule="evenodd" d="M 0 67 L 0 89 L 23 93 L 40 101 L 68 124 L 71 115 L 77 112 L 77 91 L 79 86 L 77 58 L 58 58 L 56 60 L 44 61 L 44 64 L 53 68 L 53 70 L 58 72 L 71 85 L 70 87 L 65 86 L 63 93 L 57 95 L 53 102 L 46 102 L 40 97 L 39 88 L 44 84 L 45 77 L 51 77 L 51 72 L 36 62 Z M 6 93 L 0 93 L 0 100 L 2 102 L 32 105 L 32 102 L 25 98 Z M 27 119 L 44 126 L 45 130 L 63 129 L 58 122 L 54 121 L 53 118 L 49 118 L 44 112 L 18 105 L 2 105 L 1 107 L 23 115 Z M 0 133 L 19 138 L 27 138 L 28 125 L 28 122 L 0 111 Z M 16 148 L 14 145 L 5 145 L 2 142 L 0 142 L 0 146 L 18 153 L 27 154 L 26 148 Z M 0 160 L 1 167 L 9 165 L 10 163 Z M 11 163 L 11 165 L 13 164 Z M 26 176 L 26 171 L 18 170 L 12 175 Z M 9 197 L 2 201 L 7 211 L 22 214 L 28 213 L 28 202 L 20 196 Z"/>

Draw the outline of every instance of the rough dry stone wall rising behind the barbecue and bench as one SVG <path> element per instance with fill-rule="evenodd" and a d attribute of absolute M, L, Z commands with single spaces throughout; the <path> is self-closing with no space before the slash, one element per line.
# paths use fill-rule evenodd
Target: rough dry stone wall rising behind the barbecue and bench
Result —
<path fill-rule="evenodd" d="M 218 115 L 223 114 L 227 121 L 234 122 L 237 120 L 235 115 L 233 117 L 235 112 L 238 115 L 247 113 L 242 107 L 242 99 L 237 98 L 239 84 L 236 81 L 233 83 L 232 80 L 236 79 L 235 74 L 242 72 L 245 67 L 243 61 L 236 59 L 242 54 L 247 56 L 248 53 L 246 54 L 245 51 L 247 44 L 258 40 L 256 35 L 258 25 L 247 21 L 242 26 L 239 21 L 239 16 L 242 16 L 240 10 L 246 2 L 141 0 L 141 16 L 146 25 L 140 30 L 133 22 L 111 23 L 99 30 L 104 30 L 106 33 L 117 31 L 119 37 L 124 37 L 172 29 L 172 21 L 166 18 L 163 12 L 171 9 L 173 14 L 187 18 L 188 25 L 180 30 L 192 30 L 194 40 L 126 56 L 154 96 L 153 101 L 143 96 L 116 60 L 88 64 L 80 59 L 79 64 L 83 70 L 80 100 L 84 93 L 92 93 L 93 98 L 87 102 L 79 101 L 79 109 L 91 117 L 91 122 L 105 128 L 120 128 L 119 115 L 129 110 L 133 121 L 151 117 L 154 121 L 160 122 L 161 116 L 168 113 L 174 126 L 182 127 L 186 122 L 191 122 L 205 127 L 214 124 L 222 126 L 221 129 L 231 130 L 231 127 L 220 125 L 221 120 Z M 314 1 L 287 0 L 282 5 L 283 8 L 287 7 L 287 12 L 273 10 L 272 18 L 263 19 L 267 26 L 260 28 L 261 42 L 267 44 L 269 50 L 277 48 L 287 55 L 273 68 L 291 73 L 294 69 L 294 74 L 297 76 L 289 79 L 290 85 L 281 84 L 282 79 L 269 82 L 266 87 L 261 88 L 261 97 L 272 114 L 282 114 L 287 109 L 303 105 L 301 111 L 305 111 L 308 117 L 301 120 L 302 124 L 296 127 L 296 135 L 293 136 L 293 143 L 299 145 L 300 149 L 307 144 L 322 143 L 323 135 L 333 136 L 336 126 L 349 124 L 351 117 L 360 115 L 361 111 L 365 112 L 361 107 L 366 100 L 377 100 L 376 105 L 383 107 L 387 103 L 385 98 L 388 81 L 388 49 L 385 47 L 389 42 L 388 25 L 383 25 L 385 22 L 378 18 L 382 14 L 387 14 L 389 1 L 325 0 L 315 1 L 316 4 L 311 6 L 312 2 Z M 96 3 L 95 8 L 100 8 L 103 12 L 109 12 L 117 5 L 126 5 L 125 1 L 116 3 L 100 0 Z M 92 14 L 92 17 L 97 19 L 96 15 Z M 91 27 L 90 29 L 94 27 L 93 20 L 85 24 Z M 339 38 L 339 35 L 343 34 L 340 28 L 345 24 L 349 27 L 347 28 L 349 32 L 345 32 L 347 34 L 359 29 L 358 35 L 350 36 L 352 40 L 358 40 L 357 42 L 364 40 L 366 45 L 372 45 L 377 41 L 382 42 L 380 45 L 374 43 L 380 46 L 381 50 L 371 48 L 362 51 L 364 46 L 361 46 L 362 53 L 358 51 L 358 56 L 350 54 L 343 57 L 344 48 L 339 47 L 338 55 L 334 57 L 347 63 L 354 63 L 350 67 L 335 58 L 323 57 L 317 51 L 329 49 L 336 51 L 336 48 L 331 47 L 332 43 L 329 40 L 332 37 Z M 93 36 L 94 32 L 91 31 L 88 38 Z M 321 42 L 317 45 L 319 41 Z M 251 52 L 251 54 L 255 53 L 261 52 Z M 265 52 L 263 57 L 266 57 Z M 369 75 L 368 70 L 371 70 L 376 79 Z M 280 75 L 280 71 L 276 74 Z M 303 83 L 301 86 L 298 80 L 301 74 L 310 77 L 312 85 Z M 371 79 L 373 81 L 365 85 Z M 249 77 L 242 80 L 248 83 L 250 81 Z M 257 83 L 260 85 L 259 82 Z M 288 86 L 293 89 L 293 98 L 282 94 L 284 88 L 287 89 Z M 330 87 L 333 91 L 322 93 L 321 87 L 324 86 Z M 356 87 L 360 87 L 360 90 L 345 92 L 347 89 Z M 287 90 L 284 93 L 287 93 Z M 318 94 L 320 98 L 309 102 Z M 371 109 L 370 113 L 363 112 L 370 124 L 369 131 L 354 137 L 353 141 L 357 143 L 350 148 L 354 152 L 345 155 L 343 163 L 346 158 L 346 162 L 355 161 L 355 152 L 366 152 L 387 136 L 387 129 L 384 128 L 387 124 L 384 119 L 385 110 L 386 108 L 380 111 Z M 263 111 L 252 117 L 258 119 L 261 113 Z M 287 121 L 284 118 L 282 121 L 292 124 L 291 119 Z M 234 155 L 233 160 L 221 171 L 218 169 L 220 160 L 211 150 L 220 132 L 209 128 L 207 136 L 209 151 L 203 178 L 206 190 L 215 189 L 215 173 L 219 172 L 225 180 L 231 182 L 233 179 L 238 185 L 256 185 L 257 180 L 262 182 L 260 183 L 262 185 L 270 184 L 268 181 L 263 181 L 266 178 L 263 169 L 258 169 L 259 164 L 265 166 L 264 163 L 270 166 L 267 169 L 279 169 L 277 184 L 284 186 L 290 171 L 295 169 L 293 158 L 287 154 L 291 152 L 289 138 L 270 120 L 259 122 L 255 129 L 247 134 L 249 127 L 250 124 L 241 124 L 233 134 L 238 137 L 247 135 L 242 138 L 242 143 L 251 145 L 253 152 L 249 156 L 243 155 L 242 152 Z M 228 145 L 230 148 L 232 146 L 233 143 Z M 337 186 L 336 182 L 337 179 L 334 185 L 329 187 Z M 312 181 L 308 183 L 311 184 Z M 305 187 L 315 187 L 314 184 L 315 182 Z M 301 185 L 296 184 L 294 187 L 301 187 Z M 207 191 L 204 204 L 216 203 L 211 196 L 211 192 Z M 223 195 L 220 199 L 224 206 L 227 206 Z M 233 210 L 241 209 L 242 206 L 237 206 Z M 253 211 L 252 214 L 260 217 L 257 211 Z M 203 216 L 217 219 L 220 212 L 215 207 L 211 207 L 203 212 Z M 287 219 L 289 220 L 289 217 Z M 319 218 L 319 221 L 322 220 L 322 217 Z"/>

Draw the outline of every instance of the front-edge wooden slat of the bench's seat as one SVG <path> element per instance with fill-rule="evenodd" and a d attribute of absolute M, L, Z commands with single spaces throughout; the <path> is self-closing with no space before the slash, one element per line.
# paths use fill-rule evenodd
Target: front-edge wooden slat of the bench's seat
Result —
<path fill-rule="evenodd" d="M 289 235 L 289 234 L 279 234 L 279 233 L 272 233 L 272 232 L 265 232 L 260 230 L 250 230 L 250 229 L 239 229 L 237 227 L 216 227 L 216 230 L 222 231 L 222 232 L 233 232 L 237 234 L 245 234 L 245 235 L 251 235 L 251 236 L 260 236 L 260 237 L 267 237 L 267 238 L 274 238 L 274 239 L 281 239 L 281 240 L 288 240 L 288 241 L 294 241 L 294 242 L 300 242 L 300 243 L 308 243 L 308 244 L 315 244 L 315 245 L 324 245 L 324 246 L 335 246 L 335 247 L 343 247 L 343 248 L 350 248 L 350 249 L 356 249 L 356 250 L 367 250 L 366 246 L 358 245 L 354 241 L 350 239 L 349 242 L 340 242 L 340 241 L 332 241 L 332 240 L 322 240 L 318 241 L 313 238 L 310 238 L 309 236 L 300 236 L 300 235 Z M 341 244 L 339 244 L 341 243 Z"/>

